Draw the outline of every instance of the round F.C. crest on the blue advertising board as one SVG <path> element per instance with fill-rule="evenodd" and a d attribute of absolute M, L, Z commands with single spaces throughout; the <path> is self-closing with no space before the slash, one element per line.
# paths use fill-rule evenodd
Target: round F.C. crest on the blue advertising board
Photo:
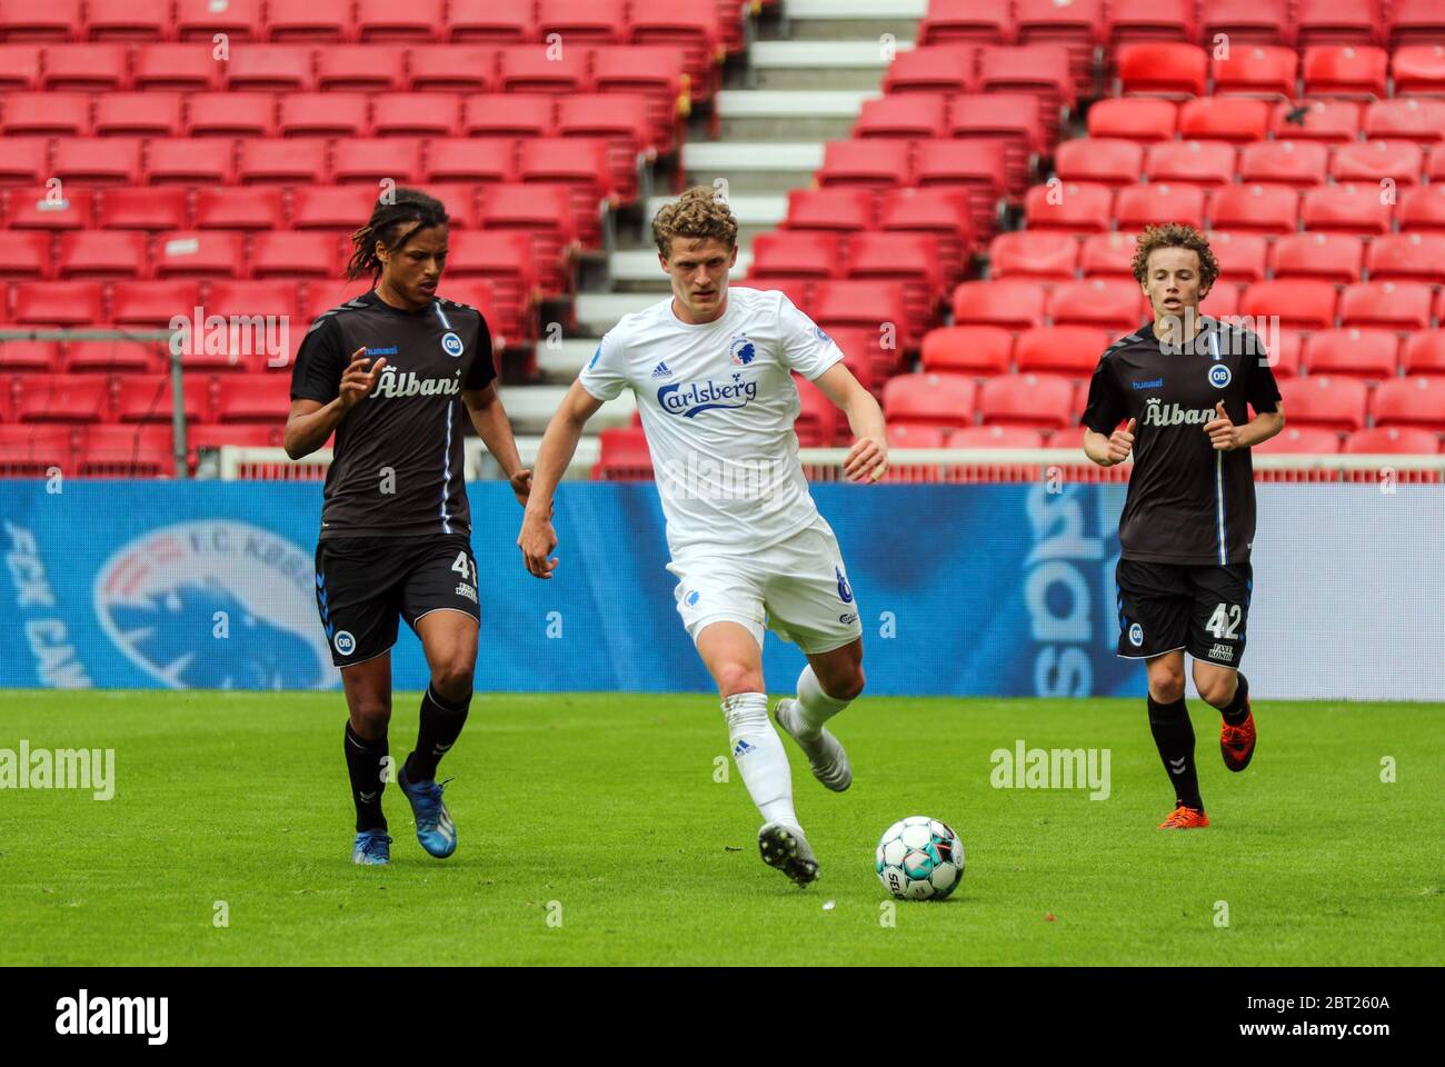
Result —
<path fill-rule="evenodd" d="M 327 688 L 337 675 L 312 614 L 314 570 L 298 545 L 246 522 L 160 526 L 100 567 L 95 617 L 176 690 Z"/>

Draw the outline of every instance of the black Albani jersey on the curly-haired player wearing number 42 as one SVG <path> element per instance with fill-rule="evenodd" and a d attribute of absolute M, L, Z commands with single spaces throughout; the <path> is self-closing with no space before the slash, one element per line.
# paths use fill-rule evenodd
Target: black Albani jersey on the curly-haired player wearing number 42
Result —
<path fill-rule="evenodd" d="M 1247 562 L 1254 541 L 1254 466 L 1248 448 L 1215 451 L 1204 424 L 1214 405 L 1235 425 L 1279 406 L 1264 346 L 1248 330 L 1201 315 L 1192 343 L 1169 347 L 1152 327 L 1114 341 L 1090 382 L 1084 425 L 1134 428 L 1134 470 L 1118 523 L 1126 560 Z"/>

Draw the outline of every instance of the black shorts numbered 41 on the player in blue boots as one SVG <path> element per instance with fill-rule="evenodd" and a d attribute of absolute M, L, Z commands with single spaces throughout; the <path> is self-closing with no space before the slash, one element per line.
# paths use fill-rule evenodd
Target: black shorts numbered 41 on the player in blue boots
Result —
<path fill-rule="evenodd" d="M 316 610 L 337 667 L 390 649 L 397 614 L 415 630 L 423 614 L 445 609 L 481 622 L 468 535 L 316 542 Z"/>

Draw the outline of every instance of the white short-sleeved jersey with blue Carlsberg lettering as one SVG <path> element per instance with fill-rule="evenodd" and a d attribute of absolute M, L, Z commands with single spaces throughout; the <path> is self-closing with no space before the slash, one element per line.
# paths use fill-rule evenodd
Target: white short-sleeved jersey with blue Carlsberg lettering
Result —
<path fill-rule="evenodd" d="M 780 292 L 728 288 L 727 311 L 689 325 L 672 296 L 623 315 L 581 373 L 611 400 L 631 386 L 642 412 L 668 548 L 750 552 L 818 518 L 798 463 L 798 387 L 842 351 Z"/>

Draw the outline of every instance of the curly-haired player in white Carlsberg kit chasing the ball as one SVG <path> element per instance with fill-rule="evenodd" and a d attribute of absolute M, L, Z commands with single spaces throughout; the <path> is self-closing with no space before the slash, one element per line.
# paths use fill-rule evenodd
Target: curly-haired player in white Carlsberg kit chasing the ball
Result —
<path fill-rule="evenodd" d="M 883 412 L 838 346 L 788 296 L 728 288 L 737 220 L 712 189 L 688 189 L 652 230 L 672 296 L 624 315 L 572 383 L 542 438 L 517 545 L 533 575 L 552 577 L 556 483 L 587 419 L 631 387 L 662 497 L 678 612 L 717 682 L 733 759 L 762 813 L 759 850 L 808 885 L 818 860 L 767 719 L 763 632 L 808 656 L 796 698 L 780 700 L 773 714 L 814 776 L 841 792 L 853 772 L 824 724 L 863 691 L 863 627 L 838 541 L 798 461 L 792 372 L 847 413 L 851 481 L 877 481 L 887 468 Z"/>

